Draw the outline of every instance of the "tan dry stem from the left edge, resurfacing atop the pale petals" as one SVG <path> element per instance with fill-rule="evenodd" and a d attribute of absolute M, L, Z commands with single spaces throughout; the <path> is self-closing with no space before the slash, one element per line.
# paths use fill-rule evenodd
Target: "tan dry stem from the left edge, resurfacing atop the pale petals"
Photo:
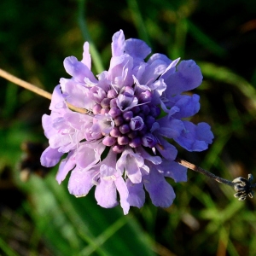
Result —
<path fill-rule="evenodd" d="M 0 77 L 2 77 L 3 79 L 7 79 L 14 84 L 17 84 L 17 85 L 25 88 L 26 90 L 31 90 L 32 92 L 38 94 L 39 96 L 43 96 L 44 98 L 51 100 L 51 94 L 48 91 L 38 88 L 38 86 L 36 86 L 36 85 L 27 83 L 26 81 L 15 77 L 14 75 L 4 71 L 1 68 L 0 68 Z M 67 102 L 67 108 L 69 108 L 73 111 L 79 112 L 79 113 L 88 113 L 87 109 L 77 108 L 68 102 Z"/>

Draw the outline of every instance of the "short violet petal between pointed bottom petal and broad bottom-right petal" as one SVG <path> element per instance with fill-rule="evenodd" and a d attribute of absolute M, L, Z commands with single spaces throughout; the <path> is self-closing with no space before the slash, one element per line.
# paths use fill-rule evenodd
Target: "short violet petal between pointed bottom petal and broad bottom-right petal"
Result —
<path fill-rule="evenodd" d="M 128 178 L 126 180 L 126 186 L 129 191 L 128 202 L 132 207 L 143 207 L 145 202 L 145 191 L 143 189 L 143 183 L 131 183 Z"/>

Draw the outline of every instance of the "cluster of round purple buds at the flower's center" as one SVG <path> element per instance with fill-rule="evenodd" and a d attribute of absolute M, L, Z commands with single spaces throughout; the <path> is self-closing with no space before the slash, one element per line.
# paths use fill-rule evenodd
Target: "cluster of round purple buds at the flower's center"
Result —
<path fill-rule="evenodd" d="M 154 106 L 150 100 L 151 92 L 148 90 L 140 92 L 138 96 L 136 90 L 130 86 L 125 86 L 119 94 L 113 89 L 108 90 L 101 102 L 93 108 L 94 114 L 108 114 L 113 119 L 111 131 L 108 134 L 102 132 L 102 143 L 113 147 L 116 153 L 123 152 L 126 145 L 131 148 L 140 145 L 153 148 L 157 142 L 150 130 L 160 114 L 160 108 Z M 111 123 L 108 119 L 108 124 Z"/>

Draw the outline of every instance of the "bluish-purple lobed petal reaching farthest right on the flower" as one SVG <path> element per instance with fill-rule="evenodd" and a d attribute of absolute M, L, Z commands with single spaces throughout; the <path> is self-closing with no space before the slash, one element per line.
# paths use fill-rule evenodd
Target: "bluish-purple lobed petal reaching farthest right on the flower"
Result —
<path fill-rule="evenodd" d="M 174 138 L 183 148 L 189 151 L 202 151 L 212 143 L 213 134 L 207 123 L 194 125 L 189 121 L 183 121 L 183 124 L 185 129 L 179 137 Z"/>

